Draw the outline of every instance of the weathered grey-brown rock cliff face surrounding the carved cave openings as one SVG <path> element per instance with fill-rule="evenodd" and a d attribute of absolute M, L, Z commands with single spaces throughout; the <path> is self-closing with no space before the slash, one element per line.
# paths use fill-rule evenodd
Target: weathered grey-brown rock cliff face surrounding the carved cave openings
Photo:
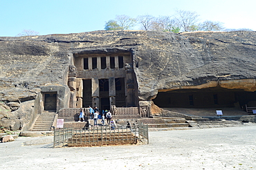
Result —
<path fill-rule="evenodd" d="M 0 37 L 0 126 L 15 130 L 30 124 L 42 86 L 66 88 L 73 54 L 116 50 L 133 57 L 139 100 L 179 88 L 255 91 L 256 32 L 95 31 Z"/>

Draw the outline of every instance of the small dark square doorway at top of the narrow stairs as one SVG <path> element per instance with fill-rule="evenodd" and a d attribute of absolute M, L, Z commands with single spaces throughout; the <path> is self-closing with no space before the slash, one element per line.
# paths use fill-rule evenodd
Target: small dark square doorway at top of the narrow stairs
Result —
<path fill-rule="evenodd" d="M 56 111 L 57 92 L 44 93 L 44 111 Z"/>

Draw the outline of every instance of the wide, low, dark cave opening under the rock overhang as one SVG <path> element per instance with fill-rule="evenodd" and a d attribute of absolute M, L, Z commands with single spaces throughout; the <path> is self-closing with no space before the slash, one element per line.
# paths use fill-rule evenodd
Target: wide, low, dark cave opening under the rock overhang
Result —
<path fill-rule="evenodd" d="M 161 108 L 242 108 L 256 99 L 256 92 L 220 87 L 158 92 L 153 100 Z"/>

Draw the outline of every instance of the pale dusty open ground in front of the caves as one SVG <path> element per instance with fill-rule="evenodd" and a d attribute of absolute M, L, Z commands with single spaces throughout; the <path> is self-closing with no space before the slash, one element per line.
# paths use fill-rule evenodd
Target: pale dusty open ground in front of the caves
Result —
<path fill-rule="evenodd" d="M 0 143 L 1 169 L 256 169 L 256 126 L 150 131 L 142 145 L 53 149 L 52 142 Z"/>

